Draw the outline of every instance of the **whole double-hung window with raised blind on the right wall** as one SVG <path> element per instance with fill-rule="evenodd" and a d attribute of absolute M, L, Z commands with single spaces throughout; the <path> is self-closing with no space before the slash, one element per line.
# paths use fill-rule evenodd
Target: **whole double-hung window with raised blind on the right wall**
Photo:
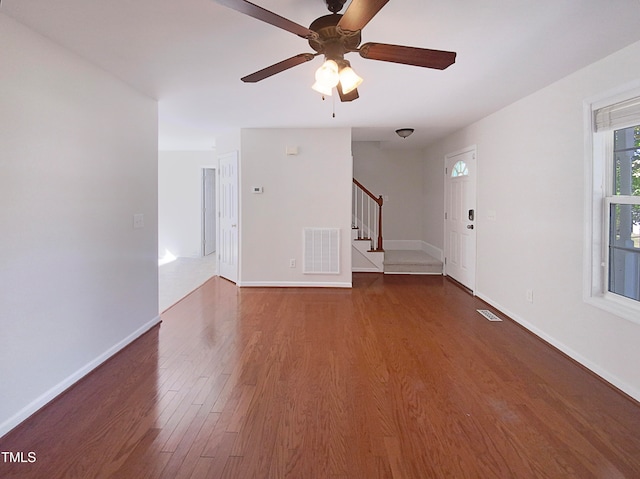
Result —
<path fill-rule="evenodd" d="M 640 92 L 590 105 L 588 299 L 640 322 Z"/>

